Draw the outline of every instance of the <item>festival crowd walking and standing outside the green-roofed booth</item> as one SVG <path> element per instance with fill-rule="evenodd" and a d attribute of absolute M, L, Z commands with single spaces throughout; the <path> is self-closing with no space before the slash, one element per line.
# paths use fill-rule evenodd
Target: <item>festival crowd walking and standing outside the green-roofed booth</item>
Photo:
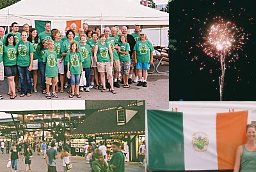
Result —
<path fill-rule="evenodd" d="M 70 141 L 64 144 L 64 141 L 2 141 L 1 152 L 10 154 L 9 161 L 12 164 L 12 171 L 17 171 L 18 161 L 22 159 L 26 164 L 26 171 L 31 171 L 31 162 L 33 156 L 42 155 L 45 159 L 48 172 L 56 171 L 57 159 L 62 159 L 63 171 L 68 170 L 68 164 L 72 164 L 70 156 Z M 96 143 L 95 141 L 87 142 L 84 144 L 84 159 L 86 164 L 90 164 L 93 172 L 98 171 L 118 171 L 124 172 L 125 157 L 122 152 L 125 150 L 125 145 L 122 141 L 102 142 Z M 58 152 L 61 152 L 58 155 Z M 111 153 L 113 152 L 113 154 Z M 140 145 L 138 155 L 140 156 L 140 163 L 145 166 L 145 141 Z"/>

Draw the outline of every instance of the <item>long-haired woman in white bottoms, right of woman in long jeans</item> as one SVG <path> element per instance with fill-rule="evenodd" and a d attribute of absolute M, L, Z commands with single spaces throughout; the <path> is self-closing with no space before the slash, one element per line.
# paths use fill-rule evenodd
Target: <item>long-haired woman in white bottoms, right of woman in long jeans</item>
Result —
<path fill-rule="evenodd" d="M 34 47 L 34 54 L 33 54 L 33 88 L 34 92 L 37 92 L 36 85 L 38 79 L 38 54 L 37 54 L 37 45 L 39 43 L 38 34 L 35 28 L 31 28 L 29 31 L 28 41 L 33 44 Z"/>

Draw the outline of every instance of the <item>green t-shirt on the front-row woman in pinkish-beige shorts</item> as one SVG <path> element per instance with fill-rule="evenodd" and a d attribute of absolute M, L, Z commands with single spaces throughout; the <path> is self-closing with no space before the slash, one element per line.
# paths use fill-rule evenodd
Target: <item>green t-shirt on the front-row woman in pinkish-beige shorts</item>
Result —
<path fill-rule="evenodd" d="M 111 59 L 109 57 L 109 52 L 108 52 L 108 43 L 104 43 L 104 45 L 101 45 L 99 42 L 98 44 L 98 52 L 97 52 L 97 61 L 98 62 L 110 62 Z"/>

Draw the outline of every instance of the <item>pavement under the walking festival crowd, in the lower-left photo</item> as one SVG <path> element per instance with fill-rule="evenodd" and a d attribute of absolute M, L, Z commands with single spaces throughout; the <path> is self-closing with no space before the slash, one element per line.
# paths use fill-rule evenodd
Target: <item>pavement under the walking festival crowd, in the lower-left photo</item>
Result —
<path fill-rule="evenodd" d="M 22 155 L 20 156 L 22 158 Z M 26 167 L 24 164 L 24 161 L 18 162 L 18 172 L 19 171 L 26 171 Z M 9 154 L 0 154 L 0 171 L 1 172 L 10 172 L 12 169 L 6 168 L 6 164 L 9 159 Z M 70 169 L 70 172 L 72 171 L 90 171 L 90 165 L 85 163 L 84 157 L 71 157 L 71 161 L 73 164 L 73 168 Z M 45 159 L 42 159 L 41 155 L 34 155 L 31 163 L 31 172 L 46 172 L 47 166 L 45 164 Z M 60 153 L 59 158 L 57 161 L 57 171 L 63 171 L 62 168 L 62 160 L 60 159 Z M 138 162 L 125 162 L 125 172 L 144 172 L 145 168 L 142 164 L 139 164 Z"/>

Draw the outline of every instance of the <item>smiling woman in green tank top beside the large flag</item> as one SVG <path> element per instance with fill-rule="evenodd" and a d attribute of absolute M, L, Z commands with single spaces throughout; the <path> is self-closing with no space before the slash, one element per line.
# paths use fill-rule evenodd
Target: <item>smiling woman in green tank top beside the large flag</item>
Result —
<path fill-rule="evenodd" d="M 256 127 L 253 124 L 246 126 L 247 141 L 237 148 L 234 172 L 256 171 Z"/>

